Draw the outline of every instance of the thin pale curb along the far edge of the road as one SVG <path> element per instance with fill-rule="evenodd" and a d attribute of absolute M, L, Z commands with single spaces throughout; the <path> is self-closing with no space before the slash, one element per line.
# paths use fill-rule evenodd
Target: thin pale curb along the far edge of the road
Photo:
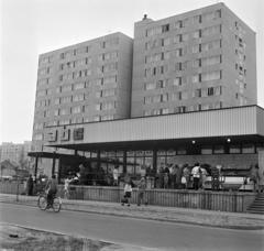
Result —
<path fill-rule="evenodd" d="M 0 201 L 6 204 L 15 204 L 12 201 Z M 26 205 L 26 204 L 15 204 L 15 205 L 22 205 L 28 207 L 37 207 L 37 205 Z M 74 204 L 63 204 L 68 206 L 74 206 Z M 114 216 L 114 217 L 124 217 L 124 218 L 131 218 L 131 219 L 144 219 L 144 220 L 155 220 L 161 222 L 170 222 L 170 223 L 184 223 L 184 225 L 195 225 L 195 226 L 201 226 L 201 227 L 211 227 L 211 228 L 224 228 L 224 229 L 233 229 L 233 230 L 263 230 L 264 226 L 223 226 L 223 225 L 210 225 L 210 223 L 199 223 L 199 222 L 190 222 L 190 221 L 184 221 L 184 220 L 175 220 L 175 219 L 161 219 L 157 217 L 142 217 L 142 216 L 127 216 L 127 215 L 118 215 L 112 212 L 100 212 L 100 211 L 89 211 L 89 210 L 82 210 L 82 209 L 70 209 L 70 208 L 63 208 L 62 210 L 66 211 L 78 211 L 78 212 L 87 212 L 87 214 L 95 214 L 95 215 L 108 215 L 108 216 Z M 248 218 L 249 219 L 249 218 Z"/>

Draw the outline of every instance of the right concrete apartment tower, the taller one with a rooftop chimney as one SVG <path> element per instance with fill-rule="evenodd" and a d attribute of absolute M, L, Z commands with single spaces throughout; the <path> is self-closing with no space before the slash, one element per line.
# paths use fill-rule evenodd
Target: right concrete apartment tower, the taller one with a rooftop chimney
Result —
<path fill-rule="evenodd" d="M 135 23 L 132 117 L 255 103 L 255 33 L 223 3 Z"/>

